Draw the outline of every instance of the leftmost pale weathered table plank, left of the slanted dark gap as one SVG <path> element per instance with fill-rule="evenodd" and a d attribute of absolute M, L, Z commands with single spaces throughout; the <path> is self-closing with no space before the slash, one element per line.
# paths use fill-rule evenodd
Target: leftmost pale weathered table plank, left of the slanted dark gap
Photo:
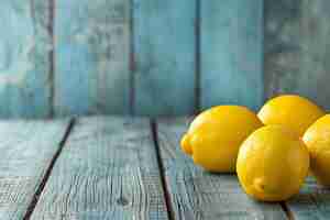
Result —
<path fill-rule="evenodd" d="M 68 121 L 0 122 L 0 219 L 23 219 Z"/>

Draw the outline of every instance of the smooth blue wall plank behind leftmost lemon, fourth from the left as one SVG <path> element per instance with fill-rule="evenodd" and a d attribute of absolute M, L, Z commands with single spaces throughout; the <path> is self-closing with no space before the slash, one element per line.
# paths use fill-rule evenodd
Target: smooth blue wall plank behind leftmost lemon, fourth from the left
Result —
<path fill-rule="evenodd" d="M 263 101 L 263 1 L 201 1 L 201 108 Z"/>

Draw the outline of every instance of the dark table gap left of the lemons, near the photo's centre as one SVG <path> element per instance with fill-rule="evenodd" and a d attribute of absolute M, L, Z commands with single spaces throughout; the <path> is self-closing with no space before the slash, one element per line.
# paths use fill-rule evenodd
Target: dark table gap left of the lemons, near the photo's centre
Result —
<path fill-rule="evenodd" d="M 173 211 L 173 207 L 172 207 L 172 202 L 170 202 L 170 195 L 169 195 L 169 190 L 166 184 L 166 178 L 165 178 L 165 173 L 164 173 L 164 164 L 161 157 L 161 150 L 160 150 L 160 143 L 158 143 L 158 132 L 157 132 L 157 123 L 155 119 L 151 120 L 151 129 L 152 129 L 152 136 L 153 136 L 153 141 L 154 141 L 154 146 L 156 150 L 156 157 L 157 157 L 157 163 L 158 163 L 158 169 L 160 169 L 160 176 L 161 176 L 161 182 L 162 182 L 162 186 L 164 189 L 164 197 L 165 197 L 165 205 L 168 211 L 168 219 L 169 220 L 174 220 L 174 211 Z"/>

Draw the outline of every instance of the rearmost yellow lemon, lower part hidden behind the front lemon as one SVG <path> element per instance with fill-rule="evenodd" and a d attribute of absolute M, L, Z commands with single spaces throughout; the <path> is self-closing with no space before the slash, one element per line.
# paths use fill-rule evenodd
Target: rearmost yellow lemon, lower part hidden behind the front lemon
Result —
<path fill-rule="evenodd" d="M 271 99 L 260 110 L 258 118 L 266 125 L 283 124 L 300 136 L 324 111 L 306 98 L 296 95 L 285 95 Z"/>

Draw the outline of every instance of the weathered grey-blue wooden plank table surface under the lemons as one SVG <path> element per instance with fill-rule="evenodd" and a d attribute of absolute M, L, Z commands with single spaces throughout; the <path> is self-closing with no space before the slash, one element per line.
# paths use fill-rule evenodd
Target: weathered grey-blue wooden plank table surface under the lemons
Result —
<path fill-rule="evenodd" d="M 0 122 L 0 219 L 329 219 L 308 178 L 287 202 L 250 199 L 233 175 L 179 150 L 189 119 L 89 117 Z"/>

